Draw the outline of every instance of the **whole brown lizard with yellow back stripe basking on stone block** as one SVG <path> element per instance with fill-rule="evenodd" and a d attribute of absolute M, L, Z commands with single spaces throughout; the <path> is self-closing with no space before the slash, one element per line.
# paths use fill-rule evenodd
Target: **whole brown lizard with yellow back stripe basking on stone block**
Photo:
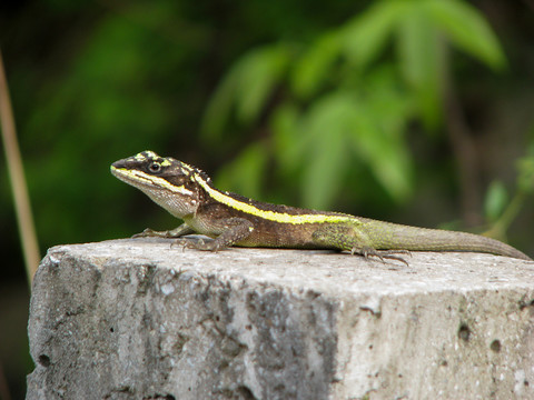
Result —
<path fill-rule="evenodd" d="M 147 228 L 134 237 L 175 238 L 197 250 L 219 251 L 233 246 L 330 249 L 398 260 L 411 251 L 471 251 L 532 260 L 520 250 L 483 236 L 416 228 L 342 212 L 273 204 L 217 189 L 200 169 L 154 151 L 116 161 L 118 179 L 140 189 L 157 204 L 184 221 L 178 228 Z M 200 233 L 214 240 L 181 238 Z"/>

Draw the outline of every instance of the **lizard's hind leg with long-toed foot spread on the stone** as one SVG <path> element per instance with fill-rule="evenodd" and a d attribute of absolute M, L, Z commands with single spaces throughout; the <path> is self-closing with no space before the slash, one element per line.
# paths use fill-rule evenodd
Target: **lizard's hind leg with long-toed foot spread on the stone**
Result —
<path fill-rule="evenodd" d="M 357 227 L 347 226 L 324 226 L 317 229 L 312 238 L 318 246 L 336 248 L 342 251 L 350 251 L 350 254 L 359 254 L 366 259 L 376 257 L 384 262 L 384 259 L 408 262 L 394 253 L 409 253 L 406 250 L 378 250 L 375 249 L 370 239 Z"/>

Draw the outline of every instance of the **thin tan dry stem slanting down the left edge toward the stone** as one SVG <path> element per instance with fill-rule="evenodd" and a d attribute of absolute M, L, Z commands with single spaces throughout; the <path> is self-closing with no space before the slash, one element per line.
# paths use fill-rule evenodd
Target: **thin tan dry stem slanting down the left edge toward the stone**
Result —
<path fill-rule="evenodd" d="M 17 142 L 17 131 L 14 128 L 13 111 L 9 98 L 8 81 L 3 68 L 2 54 L 0 52 L 0 122 L 2 127 L 2 141 L 6 150 L 6 160 L 8 163 L 9 178 L 13 192 L 14 209 L 17 211 L 17 222 L 22 243 L 22 251 L 26 261 L 26 272 L 31 288 L 31 281 L 39 267 L 39 247 L 37 242 L 33 217 L 31 214 L 30 199 L 22 168 L 22 158 L 20 156 L 19 144 Z"/>

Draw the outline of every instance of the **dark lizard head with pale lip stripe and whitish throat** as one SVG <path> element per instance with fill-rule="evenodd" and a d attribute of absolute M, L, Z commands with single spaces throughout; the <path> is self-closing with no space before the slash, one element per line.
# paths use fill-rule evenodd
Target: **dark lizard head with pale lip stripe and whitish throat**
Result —
<path fill-rule="evenodd" d="M 113 162 L 111 173 L 145 192 L 175 217 L 191 214 L 199 204 L 201 189 L 196 177 L 204 172 L 170 157 L 142 151 Z"/>

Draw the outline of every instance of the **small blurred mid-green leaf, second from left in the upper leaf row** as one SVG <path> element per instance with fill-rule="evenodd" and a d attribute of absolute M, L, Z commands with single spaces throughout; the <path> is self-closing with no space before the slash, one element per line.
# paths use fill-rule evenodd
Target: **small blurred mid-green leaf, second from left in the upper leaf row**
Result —
<path fill-rule="evenodd" d="M 295 94 L 307 98 L 329 81 L 332 68 L 339 57 L 340 37 L 337 30 L 322 36 L 298 59 L 291 73 Z"/>

